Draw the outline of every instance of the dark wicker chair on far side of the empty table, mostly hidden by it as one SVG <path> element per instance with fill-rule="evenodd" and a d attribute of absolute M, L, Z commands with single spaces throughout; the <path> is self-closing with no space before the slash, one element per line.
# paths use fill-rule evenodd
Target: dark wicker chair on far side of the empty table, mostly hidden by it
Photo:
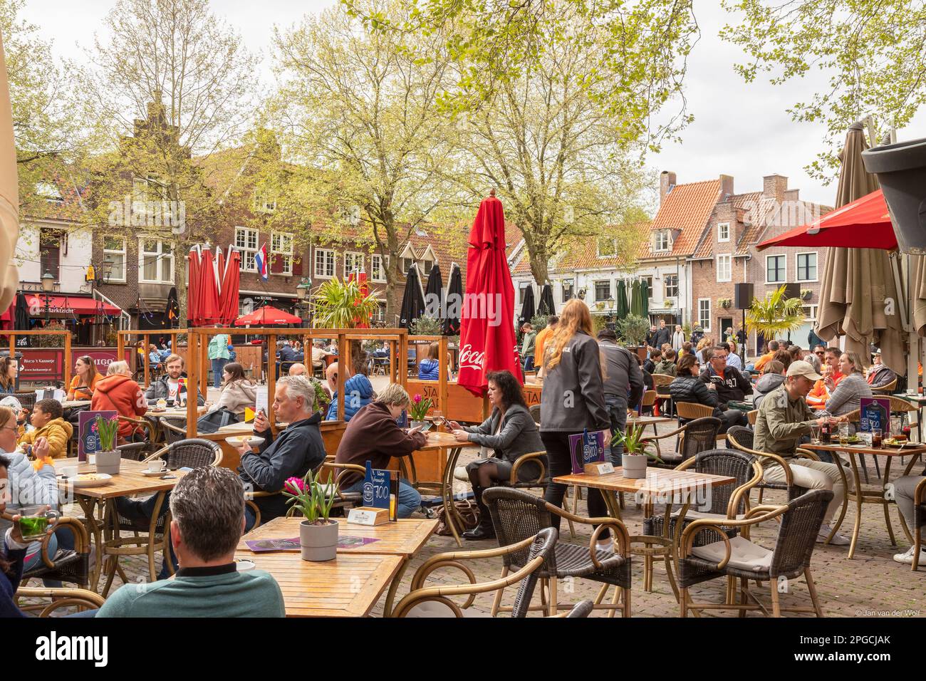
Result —
<path fill-rule="evenodd" d="M 672 513 L 669 520 L 669 533 L 664 533 L 665 518 L 654 515 L 643 522 L 644 535 L 674 536 L 678 519 L 682 518 L 682 528 L 687 527 L 694 520 L 709 518 L 721 521 L 725 518 L 740 518 L 749 510 L 749 490 L 762 479 L 762 466 L 756 457 L 735 449 L 708 449 L 699 452 L 691 459 L 685 460 L 676 470 L 685 471 L 694 468 L 697 473 L 711 475 L 725 475 L 736 479 L 734 485 L 722 485 L 710 488 L 707 499 L 707 509 L 689 510 L 682 514 L 682 510 Z M 736 527 L 727 529 L 727 536 L 735 536 Z M 706 530 L 694 537 L 694 546 L 703 546 L 720 537 L 713 530 Z"/>

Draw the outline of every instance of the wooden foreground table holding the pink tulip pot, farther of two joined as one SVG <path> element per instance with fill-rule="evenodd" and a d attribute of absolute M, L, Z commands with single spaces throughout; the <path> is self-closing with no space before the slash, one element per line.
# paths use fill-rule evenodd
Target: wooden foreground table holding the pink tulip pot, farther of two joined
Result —
<path fill-rule="evenodd" d="M 365 525 L 348 524 L 344 518 L 334 518 L 332 520 L 336 520 L 341 525 L 339 529 L 341 535 L 363 536 L 377 539 L 377 541 L 374 541 L 370 544 L 365 544 L 363 546 L 344 548 L 338 547 L 339 554 L 397 556 L 402 560 L 402 563 L 399 566 L 398 571 L 395 573 L 393 581 L 389 586 L 389 593 L 386 595 L 386 602 L 383 607 L 383 615 L 388 617 L 393 611 L 395 592 L 398 589 L 399 583 L 402 581 L 402 576 L 405 574 L 409 561 L 411 561 L 412 557 L 424 547 L 424 545 L 428 542 L 428 538 L 434 534 L 434 531 L 437 529 L 437 521 L 419 518 L 407 518 L 405 520 L 399 520 L 394 523 L 385 523 L 382 525 L 376 525 L 374 527 L 368 527 Z M 274 518 L 269 523 L 251 530 L 251 532 L 242 537 L 241 543 L 238 544 L 238 552 L 235 554 L 235 557 L 248 558 L 249 560 L 253 561 L 255 560 L 255 556 L 263 557 L 266 555 L 271 555 L 265 553 L 254 553 L 247 548 L 247 545 L 244 544 L 244 540 L 269 538 L 287 539 L 294 536 L 299 536 L 299 523 L 301 522 L 302 518 Z M 299 557 L 298 553 L 294 553 L 294 555 L 296 558 Z M 314 564 L 320 565 L 323 563 Z M 285 596 L 285 592 L 283 595 Z M 376 601 L 374 600 L 373 602 L 375 603 Z M 287 614 L 289 614 L 288 607 Z M 364 612 L 364 614 L 366 614 L 366 612 Z"/>

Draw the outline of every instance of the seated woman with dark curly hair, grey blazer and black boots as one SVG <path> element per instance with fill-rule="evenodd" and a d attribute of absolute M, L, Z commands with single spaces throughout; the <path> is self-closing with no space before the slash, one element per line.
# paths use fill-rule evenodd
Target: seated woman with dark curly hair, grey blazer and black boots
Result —
<path fill-rule="evenodd" d="M 480 511 L 479 525 L 463 533 L 466 539 L 490 539 L 495 536 L 489 510 L 482 503 L 482 491 L 507 482 L 511 478 L 514 462 L 522 454 L 544 450 L 544 443 L 524 402 L 518 379 L 511 372 L 491 372 L 486 378 L 489 402 L 493 408 L 489 418 L 480 425 L 464 427 L 457 422 L 449 424 L 458 441 L 475 442 L 485 449 L 494 450 L 490 458 L 472 461 L 466 467 Z M 544 467 L 546 465 L 544 457 Z M 518 469 L 521 482 L 536 480 L 538 475 L 540 466 L 535 461 L 527 461 Z"/>

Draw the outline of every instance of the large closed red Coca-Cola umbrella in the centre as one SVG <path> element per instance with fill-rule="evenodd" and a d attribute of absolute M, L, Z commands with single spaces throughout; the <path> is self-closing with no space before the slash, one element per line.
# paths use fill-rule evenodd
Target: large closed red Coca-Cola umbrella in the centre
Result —
<path fill-rule="evenodd" d="M 469 231 L 459 385 L 482 396 L 489 372 L 507 370 L 520 381 L 514 314 L 515 289 L 505 254 L 505 211 L 493 192 L 482 200 Z"/>

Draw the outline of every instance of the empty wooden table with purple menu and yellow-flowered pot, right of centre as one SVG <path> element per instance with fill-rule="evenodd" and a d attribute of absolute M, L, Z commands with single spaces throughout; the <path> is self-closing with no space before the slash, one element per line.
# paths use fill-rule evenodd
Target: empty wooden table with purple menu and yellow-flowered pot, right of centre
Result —
<path fill-rule="evenodd" d="M 615 468 L 614 473 L 604 475 L 590 475 L 588 473 L 572 473 L 560 475 L 553 482 L 562 485 L 575 485 L 589 487 L 601 491 L 607 503 L 611 516 L 620 518 L 618 494 L 628 493 L 636 495 L 641 500 L 644 509 L 644 519 L 653 517 L 653 505 L 662 503 L 666 505 L 665 516 L 662 523 L 662 536 L 639 535 L 631 536 L 631 543 L 643 544 L 642 548 L 632 548 L 635 555 L 644 556 L 644 588 L 653 590 L 653 557 L 662 556 L 666 561 L 666 573 L 669 575 L 669 584 L 679 599 L 679 588 L 675 584 L 672 574 L 672 562 L 675 561 L 674 540 L 671 536 L 672 504 L 682 503 L 682 512 L 687 512 L 699 492 L 706 493 L 707 489 L 720 485 L 731 485 L 736 478 L 727 475 L 714 475 L 711 473 L 697 473 L 695 471 L 673 471 L 662 468 L 647 468 L 645 478 L 625 478 L 622 468 Z M 653 546 L 656 545 L 656 546 Z"/>

